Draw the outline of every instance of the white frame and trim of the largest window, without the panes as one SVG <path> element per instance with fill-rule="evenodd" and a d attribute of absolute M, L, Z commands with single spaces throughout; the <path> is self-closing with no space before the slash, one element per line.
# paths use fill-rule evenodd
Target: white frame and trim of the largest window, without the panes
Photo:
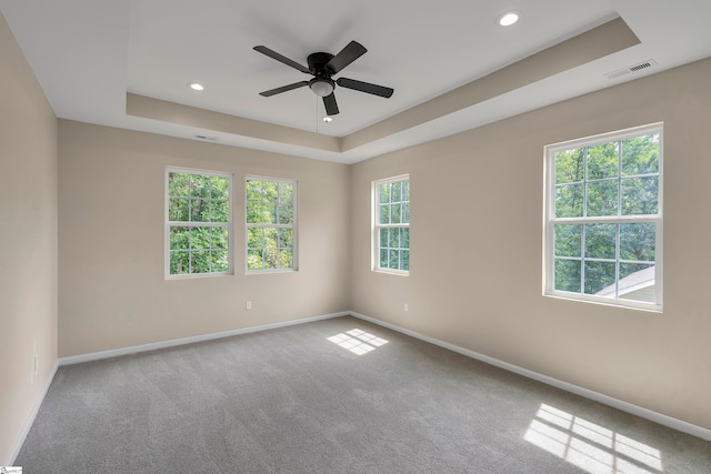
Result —
<path fill-rule="evenodd" d="M 614 215 L 599 218 L 559 218 L 554 219 L 555 203 L 555 153 L 563 150 L 570 150 L 578 147 L 593 147 L 610 141 L 624 140 L 628 138 L 644 135 L 649 133 L 659 133 L 659 188 L 658 188 L 658 214 L 651 215 Z M 599 303 L 603 305 L 617 307 L 630 307 L 644 310 L 650 312 L 662 312 L 662 293 L 663 293 L 663 122 L 650 123 L 647 125 L 634 127 L 631 129 L 620 130 L 615 132 L 602 133 L 571 140 L 567 142 L 553 143 L 544 148 L 544 189 L 543 189 L 543 295 L 559 297 L 564 300 L 582 301 L 589 303 Z M 554 239 L 553 228 L 555 223 L 629 223 L 629 222 L 653 222 L 655 229 L 655 261 L 654 261 L 654 291 L 655 302 L 648 303 L 633 300 L 610 299 L 604 296 L 595 296 L 585 293 L 571 293 L 558 291 L 553 289 L 554 282 Z"/>

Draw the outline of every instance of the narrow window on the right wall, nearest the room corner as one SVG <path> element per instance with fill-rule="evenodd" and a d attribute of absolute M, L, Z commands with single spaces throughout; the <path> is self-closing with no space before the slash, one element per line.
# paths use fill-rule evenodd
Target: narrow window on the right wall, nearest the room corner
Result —
<path fill-rule="evenodd" d="M 373 182 L 373 269 L 408 274 L 410 271 L 410 178 Z"/>

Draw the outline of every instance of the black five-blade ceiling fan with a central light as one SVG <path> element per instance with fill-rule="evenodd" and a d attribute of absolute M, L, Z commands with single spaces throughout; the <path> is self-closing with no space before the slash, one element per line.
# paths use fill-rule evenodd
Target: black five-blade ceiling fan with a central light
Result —
<path fill-rule="evenodd" d="M 279 54 L 276 51 L 270 50 L 267 47 L 254 47 L 256 51 L 261 52 L 279 62 L 292 67 L 301 72 L 313 75 L 313 79 L 309 81 L 299 81 L 293 84 L 282 85 L 277 89 L 271 89 L 264 92 L 260 92 L 260 95 L 271 97 L 282 92 L 290 91 L 292 89 L 299 89 L 308 85 L 311 91 L 323 98 L 323 105 L 326 107 L 326 113 L 329 115 L 336 115 L 339 113 L 338 103 L 336 102 L 336 95 L 333 89 L 336 84 L 346 88 L 353 89 L 356 91 L 365 92 L 373 95 L 384 97 L 389 99 L 394 92 L 391 88 L 383 85 L 371 84 L 370 82 L 357 81 L 356 79 L 338 78 L 336 81 L 331 79 L 333 75 L 341 72 L 348 64 L 356 61 L 363 56 L 368 50 L 359 42 L 351 41 L 339 52 L 333 56 L 328 52 L 314 52 L 309 54 L 307 63 L 309 67 L 301 65 L 300 63 L 292 61 L 291 59 Z"/>

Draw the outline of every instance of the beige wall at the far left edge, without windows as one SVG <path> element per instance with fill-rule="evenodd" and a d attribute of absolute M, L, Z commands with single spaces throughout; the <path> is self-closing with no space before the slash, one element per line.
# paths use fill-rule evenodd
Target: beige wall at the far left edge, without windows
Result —
<path fill-rule="evenodd" d="M 3 465 L 57 364 L 57 118 L 2 14 L 0 84 Z"/>

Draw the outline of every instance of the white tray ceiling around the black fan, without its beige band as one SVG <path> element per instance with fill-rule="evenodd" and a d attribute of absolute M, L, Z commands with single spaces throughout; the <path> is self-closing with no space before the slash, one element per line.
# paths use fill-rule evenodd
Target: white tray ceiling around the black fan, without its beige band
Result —
<path fill-rule="evenodd" d="M 709 0 L 0 0 L 0 10 L 60 118 L 346 163 L 711 57 Z M 507 10 L 521 20 L 502 28 Z M 127 114 L 131 92 L 347 137 L 617 17 L 639 44 L 341 152 Z M 337 88 L 341 113 L 326 124 L 308 88 L 259 95 L 309 77 L 254 46 L 306 65 L 351 40 L 368 52 L 337 77 L 391 87 L 391 99 Z M 658 65 L 604 75 L 649 59 Z"/>

